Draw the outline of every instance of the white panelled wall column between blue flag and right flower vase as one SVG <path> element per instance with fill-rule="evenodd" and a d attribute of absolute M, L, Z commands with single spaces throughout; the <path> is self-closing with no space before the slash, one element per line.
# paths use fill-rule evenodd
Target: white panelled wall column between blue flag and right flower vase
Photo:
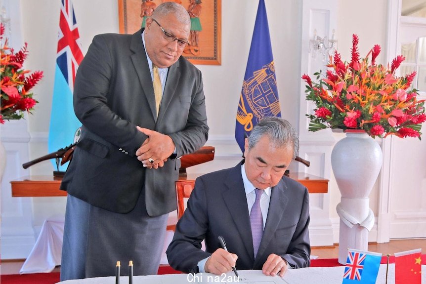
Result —
<path fill-rule="evenodd" d="M 337 0 L 303 0 L 302 30 L 301 30 L 301 74 L 313 76 L 314 72 L 326 70 L 323 57 L 315 58 L 309 51 L 310 40 L 317 36 L 329 39 L 333 30 L 337 30 Z M 305 82 L 300 79 L 300 110 L 299 110 L 299 156 L 311 162 L 310 167 L 298 165 L 298 171 L 325 177 L 330 180 L 329 191 L 332 186 L 330 156 L 335 139 L 330 131 L 308 132 L 309 120 L 306 114 L 312 112 L 314 106 L 305 100 Z M 330 193 L 310 194 L 309 234 L 311 245 L 333 245 L 333 227 L 330 219 Z"/>

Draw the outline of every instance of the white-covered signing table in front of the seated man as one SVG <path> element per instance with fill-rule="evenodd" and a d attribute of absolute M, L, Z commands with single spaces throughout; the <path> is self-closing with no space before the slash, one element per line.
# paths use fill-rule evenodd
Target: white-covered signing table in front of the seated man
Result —
<path fill-rule="evenodd" d="M 212 274 L 201 274 L 202 283 L 246 283 L 246 284 L 341 284 L 343 279 L 344 266 L 338 267 L 309 267 L 288 270 L 284 277 L 264 276 L 260 270 L 239 271 L 240 280 L 235 281 L 233 272 L 227 273 L 224 277 L 214 278 Z M 197 274 L 196 276 L 199 276 Z M 385 284 L 386 264 L 380 265 L 379 275 L 376 284 Z M 213 278 L 208 278 L 212 276 Z M 133 277 L 134 284 L 190 284 L 200 283 L 188 274 L 150 275 Z M 225 282 L 217 280 L 224 279 Z M 208 281 L 210 280 L 210 281 Z M 60 284 L 114 284 L 115 277 L 97 277 L 82 280 L 67 280 Z M 120 278 L 121 284 L 128 284 L 128 277 Z M 389 264 L 387 283 L 395 284 L 395 264 Z M 422 265 L 422 283 L 426 283 L 426 265 Z"/>

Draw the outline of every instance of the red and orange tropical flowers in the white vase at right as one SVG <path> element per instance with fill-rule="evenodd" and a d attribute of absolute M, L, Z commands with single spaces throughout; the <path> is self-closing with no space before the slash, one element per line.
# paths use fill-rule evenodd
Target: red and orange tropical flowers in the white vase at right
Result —
<path fill-rule="evenodd" d="M 401 138 L 418 137 L 422 122 L 426 121 L 425 100 L 417 100 L 417 90 L 408 90 L 416 77 L 413 72 L 396 77 L 395 70 L 405 58 L 393 59 L 391 66 L 376 65 L 380 53 L 376 44 L 367 56 L 360 60 L 358 36 L 352 36 L 352 58 L 343 62 L 336 50 L 330 56 L 326 76 L 313 82 L 304 74 L 306 100 L 316 104 L 310 119 L 309 131 L 327 127 L 362 129 L 373 138 L 396 135 Z M 371 63 L 369 56 L 371 55 Z M 314 74 L 318 80 L 322 74 Z"/>

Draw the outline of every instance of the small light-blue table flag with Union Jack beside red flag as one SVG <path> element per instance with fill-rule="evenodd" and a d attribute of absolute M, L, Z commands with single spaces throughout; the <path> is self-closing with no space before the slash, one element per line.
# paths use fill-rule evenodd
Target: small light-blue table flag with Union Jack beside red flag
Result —
<path fill-rule="evenodd" d="M 375 284 L 382 254 L 349 249 L 342 284 Z"/>

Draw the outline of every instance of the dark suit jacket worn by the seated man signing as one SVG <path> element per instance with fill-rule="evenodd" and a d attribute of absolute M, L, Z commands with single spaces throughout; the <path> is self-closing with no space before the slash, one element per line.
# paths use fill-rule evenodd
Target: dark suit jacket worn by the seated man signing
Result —
<path fill-rule="evenodd" d="M 176 225 L 166 252 L 174 269 L 197 272 L 198 262 L 220 247 L 218 236 L 225 239 L 229 252 L 238 255 L 237 269 L 261 269 L 271 253 L 280 255 L 292 267 L 309 266 L 308 190 L 286 176 L 272 188 L 263 238 L 255 259 L 241 164 L 196 180 L 187 209 Z M 206 251 L 200 249 L 203 239 Z"/>

